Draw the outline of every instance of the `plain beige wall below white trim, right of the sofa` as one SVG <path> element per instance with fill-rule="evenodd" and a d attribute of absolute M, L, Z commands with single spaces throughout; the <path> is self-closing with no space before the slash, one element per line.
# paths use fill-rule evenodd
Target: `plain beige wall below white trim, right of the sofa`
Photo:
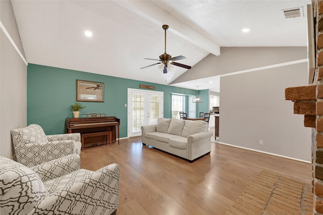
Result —
<path fill-rule="evenodd" d="M 307 85 L 307 71 L 300 63 L 221 77 L 220 141 L 310 161 L 311 129 L 285 100 L 287 87 Z"/>

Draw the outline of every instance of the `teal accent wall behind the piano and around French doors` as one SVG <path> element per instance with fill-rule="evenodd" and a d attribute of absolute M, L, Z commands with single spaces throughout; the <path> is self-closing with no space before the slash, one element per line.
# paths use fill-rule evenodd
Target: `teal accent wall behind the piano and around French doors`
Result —
<path fill-rule="evenodd" d="M 195 95 L 196 90 L 137 81 L 88 72 L 28 64 L 27 67 L 27 125 L 38 124 L 47 135 L 65 133 L 65 121 L 73 118 L 70 105 L 76 102 L 76 80 L 104 83 L 104 102 L 80 102 L 85 109 L 80 114 L 100 113 L 120 119 L 120 137 L 127 137 L 127 90 L 140 89 L 139 84 L 153 85 L 164 92 L 164 118 L 171 117 L 170 95 Z M 199 90 L 200 92 L 203 90 Z M 206 90 L 208 92 L 208 90 Z M 208 106 L 208 95 L 203 103 Z"/>

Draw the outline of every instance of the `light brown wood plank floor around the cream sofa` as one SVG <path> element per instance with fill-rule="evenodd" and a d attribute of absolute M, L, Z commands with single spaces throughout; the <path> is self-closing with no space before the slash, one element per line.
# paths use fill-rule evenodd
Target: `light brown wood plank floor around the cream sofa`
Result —
<path fill-rule="evenodd" d="M 120 165 L 123 214 L 225 214 L 252 179 L 268 170 L 311 183 L 311 165 L 211 143 L 211 153 L 194 163 L 143 146 L 141 137 L 84 148 L 81 168 Z"/>

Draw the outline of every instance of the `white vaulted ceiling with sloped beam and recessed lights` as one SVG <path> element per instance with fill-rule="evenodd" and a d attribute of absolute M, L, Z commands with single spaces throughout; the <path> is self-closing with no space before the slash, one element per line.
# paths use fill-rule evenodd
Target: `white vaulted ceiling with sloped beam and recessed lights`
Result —
<path fill-rule="evenodd" d="M 306 4 L 300 1 L 12 1 L 28 63 L 169 84 L 187 70 L 164 75 L 164 53 L 194 67 L 221 46 L 306 46 Z M 304 17 L 282 10 L 303 7 Z M 250 32 L 243 33 L 243 28 Z M 90 30 L 92 37 L 84 31 Z M 212 83 L 209 83 L 212 81 Z M 219 92 L 220 78 L 174 84 Z"/>

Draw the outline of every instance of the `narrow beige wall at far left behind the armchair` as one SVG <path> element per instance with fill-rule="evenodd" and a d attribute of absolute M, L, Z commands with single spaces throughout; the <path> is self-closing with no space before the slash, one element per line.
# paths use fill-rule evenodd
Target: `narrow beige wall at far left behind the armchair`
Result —
<path fill-rule="evenodd" d="M 0 155 L 12 158 L 10 130 L 27 124 L 27 65 L 19 56 L 5 31 L 24 51 L 12 9 L 11 1 L 0 1 Z"/>

